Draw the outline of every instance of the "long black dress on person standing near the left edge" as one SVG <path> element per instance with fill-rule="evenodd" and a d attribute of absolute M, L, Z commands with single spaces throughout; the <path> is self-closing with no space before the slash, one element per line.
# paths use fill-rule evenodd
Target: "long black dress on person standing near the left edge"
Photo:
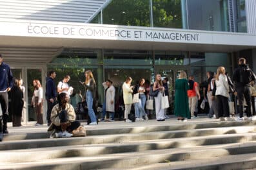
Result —
<path fill-rule="evenodd" d="M 12 87 L 10 91 L 10 112 L 12 114 L 12 126 L 21 126 L 21 115 L 23 110 L 23 91 L 17 87 Z"/>

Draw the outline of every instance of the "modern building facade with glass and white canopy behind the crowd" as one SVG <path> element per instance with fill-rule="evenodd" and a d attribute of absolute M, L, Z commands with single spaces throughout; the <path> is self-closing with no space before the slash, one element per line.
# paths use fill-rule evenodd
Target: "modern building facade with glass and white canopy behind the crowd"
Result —
<path fill-rule="evenodd" d="M 201 83 L 206 71 L 232 72 L 244 56 L 256 71 L 256 1 L 0 0 L 0 53 L 24 80 L 26 122 L 35 119 L 32 80 L 45 87 L 52 69 L 82 91 L 92 70 L 101 100 L 106 79 L 120 90 L 126 76 L 153 81 L 158 72 L 172 94 L 181 70 Z"/>

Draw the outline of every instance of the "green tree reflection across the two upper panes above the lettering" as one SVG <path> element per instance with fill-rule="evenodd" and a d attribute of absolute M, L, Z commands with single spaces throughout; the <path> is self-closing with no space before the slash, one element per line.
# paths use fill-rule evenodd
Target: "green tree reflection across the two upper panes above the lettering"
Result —
<path fill-rule="evenodd" d="M 150 26 L 148 0 L 113 0 L 103 11 L 104 24 Z M 153 0 L 153 26 L 182 28 L 181 0 Z"/>

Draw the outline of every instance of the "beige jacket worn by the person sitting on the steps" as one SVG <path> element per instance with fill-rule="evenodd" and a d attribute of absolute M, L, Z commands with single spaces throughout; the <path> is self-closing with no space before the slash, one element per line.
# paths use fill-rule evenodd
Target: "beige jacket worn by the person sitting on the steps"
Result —
<path fill-rule="evenodd" d="M 62 109 L 61 109 L 62 110 Z M 54 108 L 52 108 L 52 114 L 51 114 L 51 121 L 55 126 L 61 126 L 61 119 L 59 119 L 59 104 L 55 105 Z M 66 112 L 68 112 L 68 121 L 73 122 L 75 121 L 75 110 L 72 105 L 69 103 L 66 103 Z"/>

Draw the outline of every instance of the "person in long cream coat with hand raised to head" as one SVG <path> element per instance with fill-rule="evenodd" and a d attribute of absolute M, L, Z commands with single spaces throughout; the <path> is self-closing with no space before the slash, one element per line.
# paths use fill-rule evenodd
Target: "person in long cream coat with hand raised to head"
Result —
<path fill-rule="evenodd" d="M 110 114 L 110 121 L 115 121 L 115 87 L 113 82 L 107 80 L 103 83 L 105 99 L 103 103 L 103 117 L 101 121 L 105 121 L 106 112 Z"/>

